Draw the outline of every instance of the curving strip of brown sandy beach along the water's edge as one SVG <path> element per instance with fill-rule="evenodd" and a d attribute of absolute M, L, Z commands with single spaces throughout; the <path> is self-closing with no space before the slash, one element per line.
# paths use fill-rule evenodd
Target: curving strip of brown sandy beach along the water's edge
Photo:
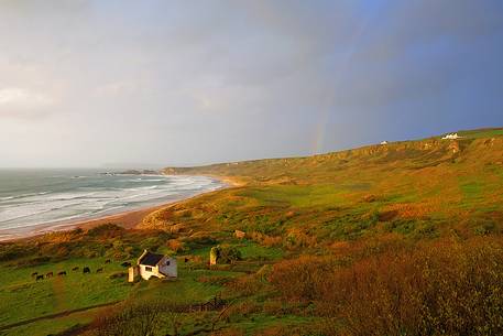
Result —
<path fill-rule="evenodd" d="M 231 188 L 231 187 L 239 187 L 242 186 L 243 183 L 240 183 L 236 181 L 232 177 L 229 176 L 214 176 L 214 175 L 200 175 L 200 176 L 208 176 L 215 180 L 218 180 L 219 182 L 222 183 L 222 186 L 212 189 L 212 191 L 206 191 L 197 195 L 193 195 L 189 197 L 182 197 L 178 199 L 172 199 L 167 200 L 165 203 L 158 204 L 158 205 L 153 205 L 153 206 L 146 206 L 143 208 L 138 208 L 138 209 L 130 209 L 117 214 L 109 214 L 105 215 L 102 217 L 98 218 L 88 218 L 88 219 L 81 219 L 81 220 L 75 220 L 75 221 L 61 221 L 61 223 L 47 223 L 47 224 L 40 224 L 36 225 L 36 229 L 24 231 L 23 229 L 19 229 L 18 232 L 15 229 L 10 229 L 10 230 L 0 230 L 0 243 L 2 242 L 12 242 L 12 241 L 21 241 L 21 240 L 29 240 L 29 239 L 34 239 L 41 236 L 44 236 L 46 234 L 51 232 L 63 232 L 63 231 L 68 231 L 77 228 L 81 228 L 84 230 L 90 229 L 92 227 L 97 227 L 103 224 L 114 224 L 118 226 L 121 226 L 125 229 L 133 229 L 136 227 L 143 218 L 145 218 L 147 215 L 161 209 L 161 208 L 166 208 L 171 206 L 178 205 L 179 203 L 187 202 L 189 199 L 207 195 L 210 193 L 216 193 L 222 189 Z M 2 237 L 2 235 L 6 235 L 6 237 Z M 8 237 L 10 235 L 11 237 Z"/>

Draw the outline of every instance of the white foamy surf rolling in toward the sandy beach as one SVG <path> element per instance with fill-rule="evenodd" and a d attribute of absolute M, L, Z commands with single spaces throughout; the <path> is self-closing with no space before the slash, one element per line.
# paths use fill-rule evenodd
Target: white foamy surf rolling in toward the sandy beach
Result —
<path fill-rule="evenodd" d="M 77 175 L 76 175 L 77 176 Z M 158 176 L 113 180 L 90 176 L 83 184 L 66 176 L 51 191 L 0 197 L 0 231 L 41 224 L 87 219 L 124 209 L 181 199 L 221 186 L 204 176 Z M 68 178 L 69 177 L 69 178 Z M 1 192 L 1 186 L 0 186 Z"/>

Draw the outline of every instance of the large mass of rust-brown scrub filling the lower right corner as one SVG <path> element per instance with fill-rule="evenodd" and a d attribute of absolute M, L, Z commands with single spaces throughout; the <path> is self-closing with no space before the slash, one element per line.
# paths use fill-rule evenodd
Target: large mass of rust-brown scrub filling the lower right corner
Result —
<path fill-rule="evenodd" d="M 342 319 L 345 335 L 502 335 L 503 246 L 438 242 L 383 252 L 349 267 L 304 257 L 273 268 L 291 301 Z"/>

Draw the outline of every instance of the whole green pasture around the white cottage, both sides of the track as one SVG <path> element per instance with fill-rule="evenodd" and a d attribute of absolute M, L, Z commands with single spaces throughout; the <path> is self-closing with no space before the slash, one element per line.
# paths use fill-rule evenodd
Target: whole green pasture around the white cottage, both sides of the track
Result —
<path fill-rule="evenodd" d="M 108 236 L 106 230 L 102 230 L 102 234 Z M 124 235 L 121 239 L 139 243 L 138 237 L 127 237 L 128 232 Z M 56 237 L 57 234 L 51 239 Z M 80 238 L 86 239 L 87 236 L 84 234 Z M 66 247 L 73 250 L 81 246 L 83 242 L 75 242 L 74 247 Z M 88 242 L 88 246 L 92 251 L 92 243 Z M 12 260 L 0 263 L 0 335 L 56 335 L 69 329 L 79 329 L 105 314 L 117 302 L 162 299 L 166 304 L 176 305 L 205 303 L 221 295 L 225 283 L 245 272 L 256 271 L 267 260 L 277 260 L 282 256 L 280 249 L 264 248 L 248 240 L 236 241 L 236 246 L 241 251 L 243 260 L 232 267 L 208 269 L 205 261 L 209 257 L 211 246 L 198 246 L 190 253 L 192 258 L 198 258 L 197 261 L 185 263 L 185 257 L 179 259 L 177 280 L 154 279 L 134 284 L 127 282 L 127 269 L 120 265 L 122 260 L 106 263 L 106 257 L 96 257 L 63 258 L 59 261 L 61 257 L 55 257 L 54 261 L 44 260 L 36 263 L 36 258 L 33 257 L 13 257 Z M 160 247 L 157 250 L 170 249 Z M 25 265 L 26 263 L 30 265 Z M 72 271 L 75 267 L 79 269 Z M 91 273 L 84 274 L 84 267 L 89 267 Z M 103 268 L 103 272 L 97 273 L 96 270 L 99 268 Z M 66 271 L 67 275 L 58 277 L 59 271 Z M 33 272 L 53 272 L 54 277 L 36 281 L 32 277 Z M 97 307 L 99 305 L 103 306 Z M 52 315 L 55 316 L 44 318 Z M 194 319 L 193 317 L 186 318 L 187 324 Z M 21 325 L 4 328 L 12 324 Z"/>

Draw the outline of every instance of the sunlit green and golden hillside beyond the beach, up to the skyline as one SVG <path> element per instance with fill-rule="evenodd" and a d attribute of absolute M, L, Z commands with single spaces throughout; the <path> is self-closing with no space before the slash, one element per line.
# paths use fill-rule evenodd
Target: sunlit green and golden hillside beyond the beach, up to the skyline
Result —
<path fill-rule="evenodd" d="M 321 228 L 329 231 L 328 240 L 378 232 L 439 236 L 452 229 L 459 235 L 499 231 L 503 219 L 503 129 L 458 134 L 463 138 L 441 140 L 439 136 L 307 158 L 166 167 L 163 172 L 227 176 L 244 183 L 212 196 L 206 204 L 212 210 L 203 212 L 208 223 L 218 223 L 211 214 L 233 218 L 238 209 L 259 212 L 283 220 L 277 235 L 293 228 L 307 235 L 309 227 L 316 227 L 310 232 L 317 240 L 328 239 L 314 234 Z M 284 218 L 288 212 L 302 219 Z M 309 212 L 318 214 L 306 215 Z M 371 216 L 376 216 L 372 224 L 356 225 Z M 226 229 L 247 229 L 232 220 L 236 226 Z"/>

